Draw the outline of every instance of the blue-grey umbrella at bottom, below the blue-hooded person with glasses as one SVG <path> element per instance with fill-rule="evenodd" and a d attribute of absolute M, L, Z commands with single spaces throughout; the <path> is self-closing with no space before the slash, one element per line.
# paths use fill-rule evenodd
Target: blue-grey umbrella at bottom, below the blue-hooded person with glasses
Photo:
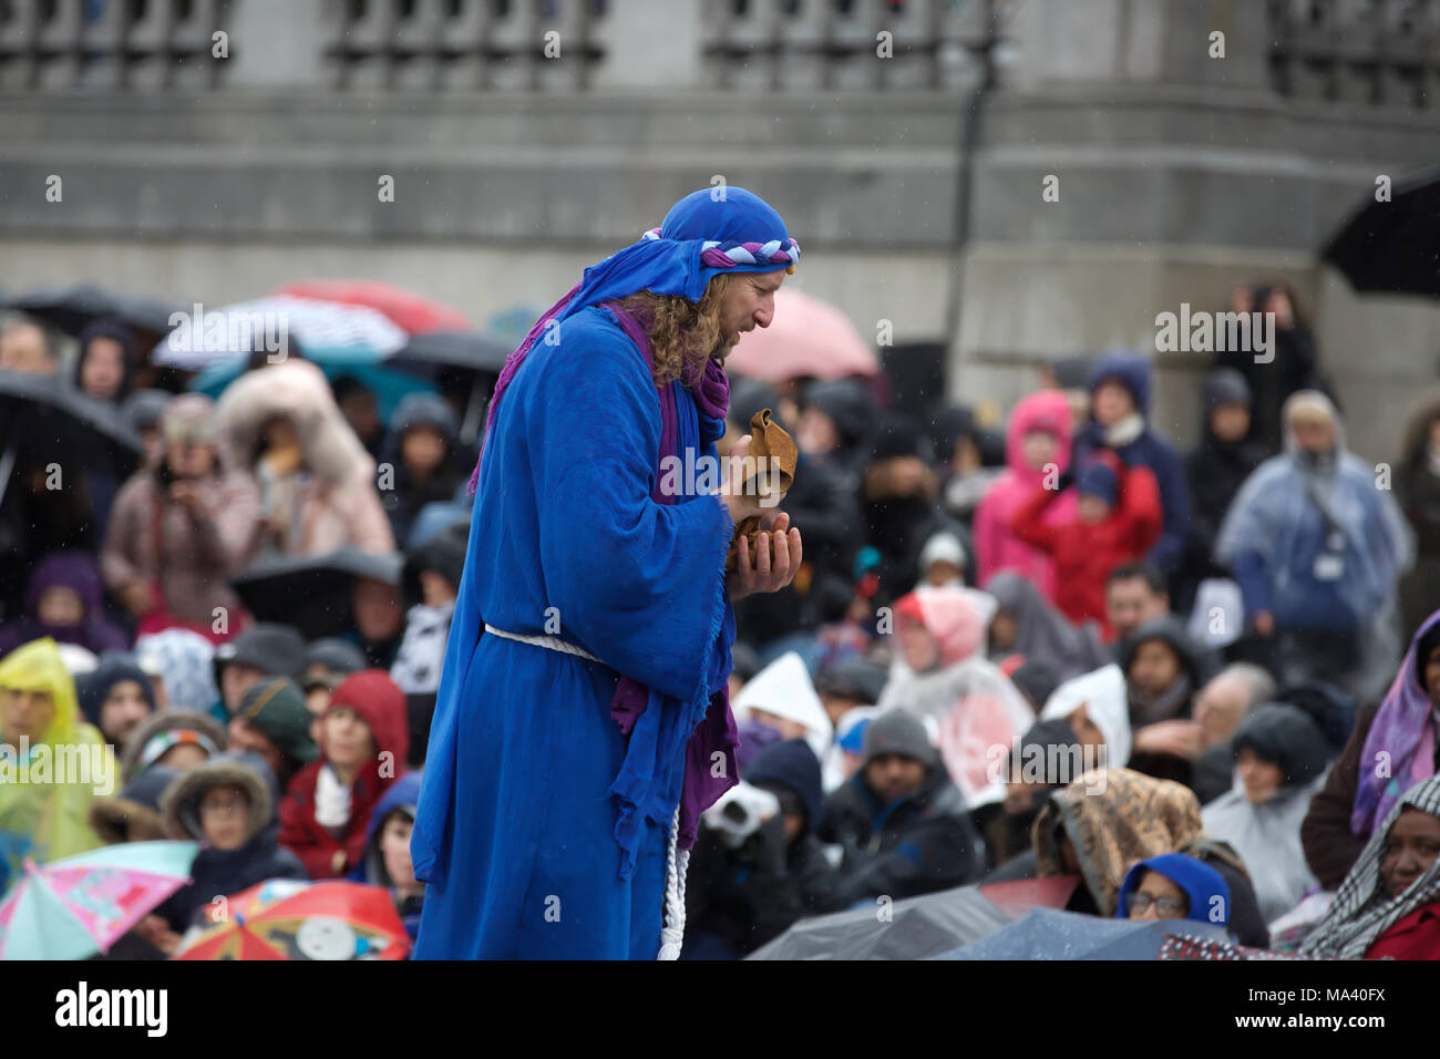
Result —
<path fill-rule="evenodd" d="M 1104 919 L 1037 908 L 998 934 L 937 960 L 1156 960 L 1169 937 L 1225 941 L 1225 929 L 1195 919 Z"/>

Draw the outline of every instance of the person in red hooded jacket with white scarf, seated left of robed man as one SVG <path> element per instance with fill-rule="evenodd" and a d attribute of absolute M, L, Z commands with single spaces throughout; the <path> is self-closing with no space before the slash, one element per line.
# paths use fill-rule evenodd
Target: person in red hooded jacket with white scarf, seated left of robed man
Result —
<path fill-rule="evenodd" d="M 386 673 L 361 670 L 336 689 L 321 756 L 289 781 L 279 813 L 279 841 L 311 879 L 341 877 L 361 862 L 370 814 L 405 769 L 406 741 L 405 694 Z"/>

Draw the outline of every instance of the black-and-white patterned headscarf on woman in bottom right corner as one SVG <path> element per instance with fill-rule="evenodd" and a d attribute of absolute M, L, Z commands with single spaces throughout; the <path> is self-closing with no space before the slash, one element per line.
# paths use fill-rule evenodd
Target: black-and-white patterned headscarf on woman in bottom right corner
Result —
<path fill-rule="evenodd" d="M 1390 810 L 1384 823 L 1369 836 L 1355 867 L 1345 876 L 1329 911 L 1300 945 L 1300 952 L 1359 958 L 1397 922 L 1416 909 L 1440 901 L 1440 859 L 1398 898 L 1391 898 L 1385 890 L 1385 880 L 1380 873 L 1385 841 L 1405 807 L 1440 817 L 1440 775 L 1411 787 Z"/>

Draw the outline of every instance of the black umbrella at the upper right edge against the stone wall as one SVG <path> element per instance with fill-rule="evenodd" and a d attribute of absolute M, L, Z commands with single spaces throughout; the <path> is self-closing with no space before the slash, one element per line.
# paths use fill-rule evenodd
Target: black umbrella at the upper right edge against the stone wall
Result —
<path fill-rule="evenodd" d="M 1365 196 L 1320 259 L 1356 291 L 1440 298 L 1440 167 L 1395 182 L 1390 202 Z"/>

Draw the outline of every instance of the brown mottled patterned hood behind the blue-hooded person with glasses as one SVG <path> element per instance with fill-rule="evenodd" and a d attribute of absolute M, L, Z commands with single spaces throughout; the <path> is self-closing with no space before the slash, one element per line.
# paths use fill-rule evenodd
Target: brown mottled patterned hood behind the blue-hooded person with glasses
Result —
<path fill-rule="evenodd" d="M 1185 850 L 1200 837 L 1200 801 L 1169 779 L 1128 768 L 1094 769 L 1050 795 L 1031 827 L 1040 875 L 1063 875 L 1056 828 L 1064 826 L 1100 915 L 1115 915 L 1136 860 Z"/>

